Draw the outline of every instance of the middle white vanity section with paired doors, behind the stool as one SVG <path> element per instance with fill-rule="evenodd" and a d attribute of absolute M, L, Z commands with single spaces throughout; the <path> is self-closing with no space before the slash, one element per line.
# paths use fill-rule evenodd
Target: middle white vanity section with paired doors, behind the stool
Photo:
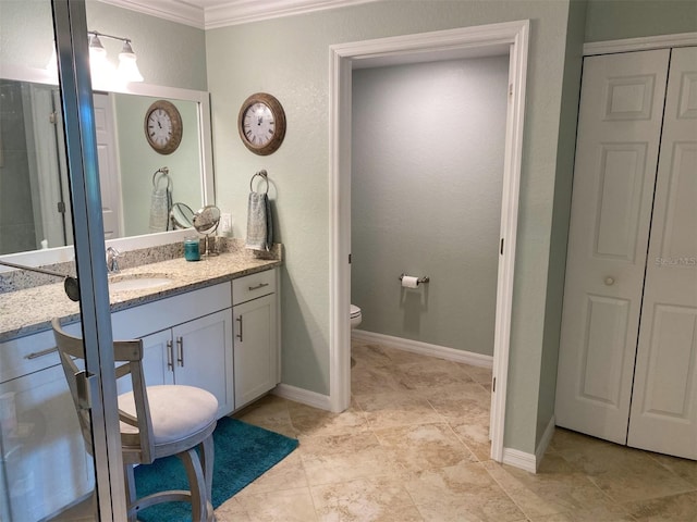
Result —
<path fill-rule="evenodd" d="M 234 409 L 231 304 L 230 283 L 221 283 L 112 314 L 113 337 L 143 339 L 147 385 L 207 389 L 220 418 Z M 127 391 L 127 377 L 120 381 Z"/>

